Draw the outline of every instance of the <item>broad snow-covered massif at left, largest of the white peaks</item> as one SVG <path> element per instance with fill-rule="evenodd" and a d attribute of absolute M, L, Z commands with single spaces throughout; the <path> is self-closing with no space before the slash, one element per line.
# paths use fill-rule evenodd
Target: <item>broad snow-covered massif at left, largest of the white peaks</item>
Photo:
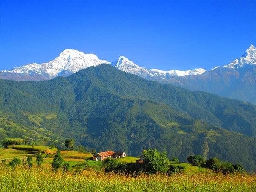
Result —
<path fill-rule="evenodd" d="M 67 76 L 76 73 L 81 69 L 104 63 L 110 64 L 108 61 L 100 60 L 94 54 L 84 54 L 77 50 L 65 49 L 57 58 L 47 63 L 27 64 L 12 70 L 3 70 L 2 72 L 25 74 L 38 73 L 39 75 L 52 79 L 56 76 Z"/>

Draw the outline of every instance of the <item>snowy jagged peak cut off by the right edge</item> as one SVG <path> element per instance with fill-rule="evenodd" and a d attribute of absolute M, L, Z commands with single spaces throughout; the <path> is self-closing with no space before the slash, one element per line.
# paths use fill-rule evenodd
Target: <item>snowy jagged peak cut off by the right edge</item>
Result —
<path fill-rule="evenodd" d="M 250 45 L 244 55 L 242 55 L 240 58 L 236 58 L 234 61 L 224 65 L 223 67 L 240 68 L 247 64 L 256 65 L 256 48 L 253 45 Z"/>

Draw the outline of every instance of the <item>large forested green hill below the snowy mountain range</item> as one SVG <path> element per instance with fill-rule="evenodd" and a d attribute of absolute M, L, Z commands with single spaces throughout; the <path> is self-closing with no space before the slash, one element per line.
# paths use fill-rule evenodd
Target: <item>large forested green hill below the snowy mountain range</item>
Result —
<path fill-rule="evenodd" d="M 63 142 L 96 150 L 144 148 L 256 164 L 256 106 L 147 81 L 99 65 L 49 81 L 0 80 L 0 139 Z"/>

